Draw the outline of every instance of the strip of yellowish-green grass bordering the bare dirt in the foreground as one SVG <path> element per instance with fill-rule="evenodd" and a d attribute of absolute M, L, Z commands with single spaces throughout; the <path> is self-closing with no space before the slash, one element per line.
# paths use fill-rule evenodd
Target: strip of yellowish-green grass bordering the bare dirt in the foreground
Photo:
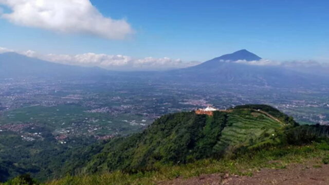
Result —
<path fill-rule="evenodd" d="M 291 163 L 306 163 L 310 160 L 320 161 L 328 156 L 328 150 L 313 143 L 304 146 L 272 147 L 235 159 L 205 159 L 194 163 L 162 166 L 157 171 L 126 174 L 120 171 L 94 175 L 66 176 L 59 180 L 47 182 L 48 185 L 91 185 L 91 184 L 144 184 L 151 185 L 160 181 L 168 181 L 177 177 L 189 178 L 202 174 L 229 173 L 252 176 L 253 172 L 262 168 L 285 169 Z M 318 165 L 321 166 L 321 165 Z M 314 168 L 320 168 L 320 167 Z"/>

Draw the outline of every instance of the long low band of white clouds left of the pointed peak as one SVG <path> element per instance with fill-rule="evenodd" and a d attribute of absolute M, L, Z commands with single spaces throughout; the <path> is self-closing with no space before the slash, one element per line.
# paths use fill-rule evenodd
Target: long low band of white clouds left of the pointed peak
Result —
<path fill-rule="evenodd" d="M 0 47 L 0 53 L 14 51 Z M 110 70 L 165 70 L 184 68 L 199 64 L 199 62 L 184 62 L 180 59 L 146 57 L 136 59 L 126 55 L 109 55 L 97 53 L 83 54 L 41 54 L 32 50 L 15 51 L 27 57 L 41 60 L 79 66 L 98 66 Z"/>

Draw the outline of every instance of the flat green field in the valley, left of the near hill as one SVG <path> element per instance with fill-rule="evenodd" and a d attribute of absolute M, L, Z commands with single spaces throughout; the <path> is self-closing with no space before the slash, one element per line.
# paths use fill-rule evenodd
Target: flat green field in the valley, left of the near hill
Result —
<path fill-rule="evenodd" d="M 78 105 L 29 106 L 5 112 L 0 117 L 0 125 L 29 123 L 47 127 L 55 133 L 70 129 L 76 135 L 127 135 L 140 131 L 152 121 L 136 114 L 113 116 L 108 113 L 87 113 L 86 110 Z"/>

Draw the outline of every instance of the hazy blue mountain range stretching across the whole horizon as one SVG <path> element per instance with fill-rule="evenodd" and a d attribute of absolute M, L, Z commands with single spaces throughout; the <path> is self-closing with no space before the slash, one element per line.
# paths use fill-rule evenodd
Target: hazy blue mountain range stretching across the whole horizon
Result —
<path fill-rule="evenodd" d="M 0 54 L 0 78 L 101 78 L 153 80 L 162 82 L 211 82 L 277 87 L 327 85 L 322 76 L 282 66 L 249 65 L 262 58 L 245 49 L 225 54 L 202 64 L 169 71 L 108 71 L 99 67 L 80 67 L 29 58 L 14 52 Z M 241 62 L 243 61 L 243 62 Z"/>

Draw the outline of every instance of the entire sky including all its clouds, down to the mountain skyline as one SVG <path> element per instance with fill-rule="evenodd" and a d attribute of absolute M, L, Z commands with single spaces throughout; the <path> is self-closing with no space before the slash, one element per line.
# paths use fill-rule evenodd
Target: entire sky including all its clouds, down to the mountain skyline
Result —
<path fill-rule="evenodd" d="M 0 52 L 124 70 L 188 67 L 240 49 L 271 64 L 329 63 L 327 1 L 61 0 L 53 5 L 1 0 Z"/>

